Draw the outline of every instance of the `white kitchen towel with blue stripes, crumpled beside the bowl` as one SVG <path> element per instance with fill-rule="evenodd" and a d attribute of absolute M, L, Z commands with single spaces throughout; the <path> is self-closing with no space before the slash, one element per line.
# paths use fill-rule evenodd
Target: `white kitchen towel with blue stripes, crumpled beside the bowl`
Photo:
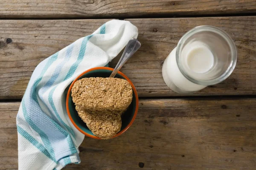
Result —
<path fill-rule="evenodd" d="M 130 22 L 111 20 L 35 68 L 17 114 L 19 170 L 60 170 L 80 163 L 84 135 L 67 116 L 64 91 L 83 71 L 107 65 L 137 36 Z"/>

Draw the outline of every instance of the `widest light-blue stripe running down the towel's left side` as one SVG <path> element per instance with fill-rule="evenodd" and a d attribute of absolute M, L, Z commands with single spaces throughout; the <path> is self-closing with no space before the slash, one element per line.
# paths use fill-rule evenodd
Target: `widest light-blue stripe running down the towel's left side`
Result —
<path fill-rule="evenodd" d="M 22 101 L 23 114 L 26 121 L 32 127 L 32 129 L 34 129 L 41 136 L 45 147 L 47 148 L 51 156 L 54 158 L 55 156 L 60 157 L 61 155 L 55 155 L 55 152 L 52 148 L 52 144 L 56 145 L 59 142 L 63 144 L 63 147 L 65 147 L 66 144 L 63 142 L 67 141 L 67 144 L 69 146 L 73 145 L 72 148 L 75 148 L 70 134 L 67 133 L 67 131 L 65 131 L 60 125 L 58 125 L 56 122 L 50 119 L 42 111 L 37 99 L 37 93 L 36 93 L 37 85 L 41 81 L 44 73 L 47 71 L 49 66 L 57 59 L 57 57 L 58 57 L 58 54 L 55 54 L 49 59 L 43 71 L 41 72 L 41 75 L 38 77 L 38 79 L 35 80 L 35 84 L 33 85 L 30 91 L 30 94 L 28 96 L 25 96 Z M 26 108 L 24 101 L 26 101 L 26 103 L 28 104 L 28 108 Z M 34 113 L 37 113 L 37 114 L 35 115 Z M 44 120 L 44 123 L 47 122 L 48 126 L 45 126 L 45 124 L 42 124 L 41 120 Z M 72 143 L 70 143 L 70 141 Z M 65 150 L 68 150 L 68 149 L 65 149 Z"/>

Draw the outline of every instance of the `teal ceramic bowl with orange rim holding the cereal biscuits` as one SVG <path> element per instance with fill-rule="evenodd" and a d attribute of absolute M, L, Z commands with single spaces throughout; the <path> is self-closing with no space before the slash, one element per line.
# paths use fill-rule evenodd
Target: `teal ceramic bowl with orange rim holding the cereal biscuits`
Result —
<path fill-rule="evenodd" d="M 87 71 L 84 71 L 72 82 L 72 84 L 70 85 L 70 88 L 67 91 L 66 107 L 67 107 L 67 114 L 70 118 L 70 121 L 81 133 L 94 139 L 100 139 L 100 138 L 95 136 L 90 131 L 90 129 L 86 126 L 86 123 L 84 123 L 81 120 L 81 118 L 78 116 L 78 113 L 75 109 L 75 104 L 73 103 L 73 100 L 72 100 L 71 88 L 73 87 L 74 83 L 79 79 L 82 79 L 85 77 L 109 77 L 112 71 L 113 71 L 113 68 L 108 68 L 108 67 L 96 67 L 96 68 L 91 68 Z M 112 138 L 121 135 L 122 133 L 125 132 L 125 130 L 127 130 L 132 125 L 132 123 L 134 122 L 134 119 L 136 118 L 138 108 L 139 108 L 138 94 L 131 80 L 128 79 L 128 77 L 125 76 L 125 74 L 123 74 L 120 71 L 116 74 L 115 77 L 126 79 L 131 84 L 133 89 L 133 99 L 132 99 L 131 105 L 128 107 L 125 113 L 122 114 L 121 130 Z"/>

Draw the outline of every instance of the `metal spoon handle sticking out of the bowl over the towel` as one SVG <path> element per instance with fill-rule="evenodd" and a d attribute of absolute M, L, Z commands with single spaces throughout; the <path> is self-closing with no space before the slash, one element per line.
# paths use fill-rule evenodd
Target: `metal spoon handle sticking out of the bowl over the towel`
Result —
<path fill-rule="evenodd" d="M 119 59 L 110 77 L 115 77 L 115 75 L 120 70 L 120 68 L 125 64 L 125 62 L 127 62 L 127 60 L 140 48 L 140 45 L 140 42 L 136 38 L 129 40 L 122 54 L 122 57 Z"/>

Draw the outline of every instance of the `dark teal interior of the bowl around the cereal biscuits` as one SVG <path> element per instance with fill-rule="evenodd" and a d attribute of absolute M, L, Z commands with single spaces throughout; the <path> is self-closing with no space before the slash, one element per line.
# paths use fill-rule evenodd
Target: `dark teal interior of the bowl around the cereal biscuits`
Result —
<path fill-rule="evenodd" d="M 85 73 L 79 79 L 86 78 L 86 77 L 109 77 L 111 73 L 112 73 L 111 70 L 98 69 L 98 70 L 93 70 L 93 71 L 89 71 L 89 72 Z M 120 74 L 116 74 L 115 78 L 125 79 Z M 67 89 L 69 89 L 69 87 Z M 81 118 L 78 116 L 78 113 L 75 108 L 75 104 L 73 103 L 73 100 L 72 100 L 71 93 L 70 93 L 69 99 L 68 99 L 68 107 L 69 107 L 69 111 L 70 111 L 70 116 L 72 117 L 75 124 L 81 130 L 83 130 L 85 133 L 95 136 L 90 131 L 90 129 L 86 126 L 86 123 L 84 123 L 81 120 Z M 131 105 L 128 107 L 128 109 L 125 111 L 125 113 L 122 114 L 122 127 L 121 127 L 120 131 L 124 130 L 129 125 L 129 123 L 133 119 L 135 110 L 136 110 L 136 96 L 135 96 L 134 89 L 133 89 L 133 99 L 132 99 Z"/>

